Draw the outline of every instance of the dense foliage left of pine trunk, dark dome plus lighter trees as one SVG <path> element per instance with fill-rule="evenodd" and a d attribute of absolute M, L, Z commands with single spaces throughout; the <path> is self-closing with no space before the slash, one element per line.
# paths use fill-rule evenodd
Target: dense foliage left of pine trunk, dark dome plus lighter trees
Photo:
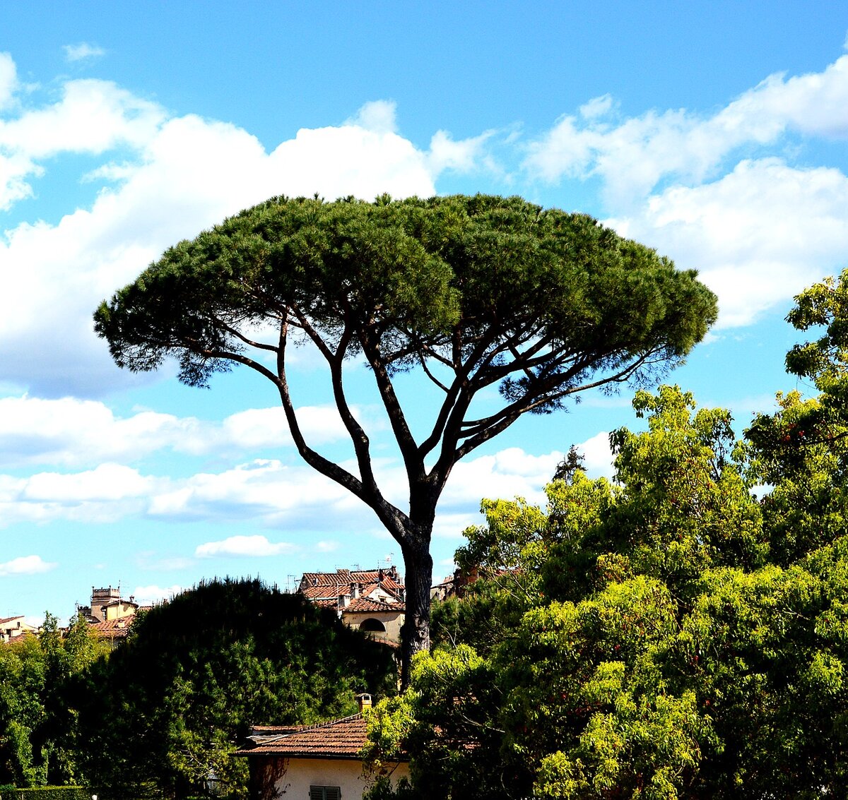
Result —
<path fill-rule="evenodd" d="M 84 619 L 0 646 L 0 784 L 102 797 L 247 791 L 250 725 L 356 711 L 396 691 L 392 651 L 332 609 L 259 581 L 212 581 L 142 613 L 111 651 Z M 90 796 L 91 792 L 86 796 Z"/>

